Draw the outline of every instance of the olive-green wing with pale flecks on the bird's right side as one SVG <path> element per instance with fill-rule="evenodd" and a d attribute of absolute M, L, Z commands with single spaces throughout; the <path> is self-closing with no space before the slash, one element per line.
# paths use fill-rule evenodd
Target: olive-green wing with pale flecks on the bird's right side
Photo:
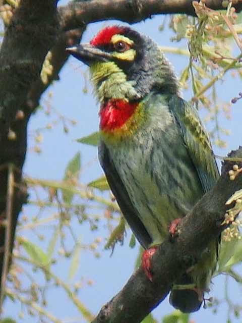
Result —
<path fill-rule="evenodd" d="M 191 104 L 178 96 L 172 96 L 169 108 L 184 136 L 185 145 L 198 172 L 203 189 L 207 192 L 216 183 L 219 172 L 209 137 L 198 112 Z"/>

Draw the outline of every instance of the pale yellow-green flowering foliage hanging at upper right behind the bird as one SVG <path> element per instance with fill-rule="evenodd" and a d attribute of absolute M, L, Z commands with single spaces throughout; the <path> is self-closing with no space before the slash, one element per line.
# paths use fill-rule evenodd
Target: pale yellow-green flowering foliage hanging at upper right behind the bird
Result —
<path fill-rule="evenodd" d="M 221 102 L 216 92 L 216 83 L 225 73 L 233 70 L 233 75 L 241 77 L 241 54 L 233 57 L 233 41 L 241 33 L 240 16 L 235 14 L 231 2 L 227 3 L 227 12 L 213 11 L 205 2 L 193 2 L 198 19 L 184 15 L 172 16 L 170 27 L 175 32 L 173 41 L 187 39 L 190 52 L 188 66 L 181 72 L 180 84 L 184 89 L 192 82 L 194 96 L 192 102 L 201 105 L 207 111 L 206 122 L 213 123 L 210 138 L 219 147 L 225 147 L 224 135 L 229 131 L 219 126 L 221 112 L 230 118 L 231 102 Z M 165 48 L 164 48 L 165 49 Z M 169 50 L 167 50 L 169 51 Z M 179 52 L 179 51 L 178 51 Z M 186 51 L 183 55 L 187 55 Z M 207 94 L 211 90 L 211 94 Z M 232 100 L 232 97 L 231 97 Z"/>

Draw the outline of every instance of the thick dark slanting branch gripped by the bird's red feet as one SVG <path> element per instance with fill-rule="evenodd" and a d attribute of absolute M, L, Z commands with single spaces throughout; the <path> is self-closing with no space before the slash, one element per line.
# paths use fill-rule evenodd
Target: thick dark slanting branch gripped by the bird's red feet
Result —
<path fill-rule="evenodd" d="M 242 147 L 232 156 L 241 157 Z M 194 265 L 209 244 L 226 226 L 221 226 L 230 207 L 228 198 L 242 188 L 242 175 L 229 180 L 228 171 L 238 163 L 226 162 L 214 188 L 205 194 L 180 225 L 177 238 L 168 239 L 154 254 L 151 283 L 140 267 L 125 287 L 104 305 L 92 323 L 138 323 L 168 294 L 172 282 Z M 240 163 L 239 167 L 242 167 Z"/>

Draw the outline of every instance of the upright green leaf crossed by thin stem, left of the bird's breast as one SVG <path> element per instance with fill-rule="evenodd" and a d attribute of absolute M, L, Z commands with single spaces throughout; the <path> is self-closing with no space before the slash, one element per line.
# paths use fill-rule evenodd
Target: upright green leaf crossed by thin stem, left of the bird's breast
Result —
<path fill-rule="evenodd" d="M 75 156 L 69 161 L 65 175 L 64 181 L 67 182 L 70 186 L 75 186 L 74 183 L 78 179 L 79 172 L 81 168 L 81 155 L 80 152 L 77 152 Z M 62 190 L 63 200 L 67 204 L 72 203 L 73 193 L 70 190 Z"/>

